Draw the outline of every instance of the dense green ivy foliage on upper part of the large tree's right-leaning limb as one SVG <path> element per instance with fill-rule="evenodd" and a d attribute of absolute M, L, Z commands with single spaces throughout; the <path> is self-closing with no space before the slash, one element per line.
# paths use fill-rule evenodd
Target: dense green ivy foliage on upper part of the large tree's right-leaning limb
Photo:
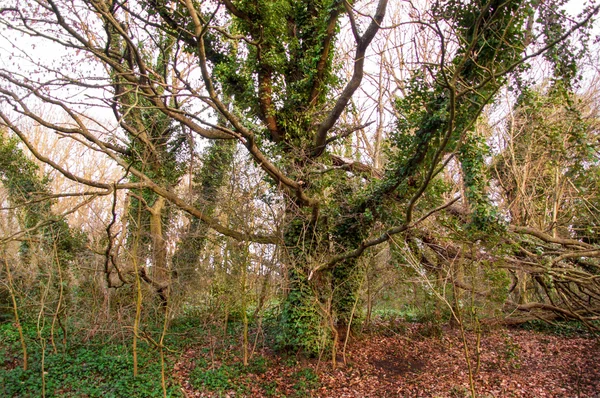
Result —
<path fill-rule="evenodd" d="M 426 176 L 443 155 L 460 148 L 459 160 L 467 177 L 466 199 L 473 201 L 475 210 L 473 225 L 485 230 L 490 223 L 496 224 L 495 210 L 485 193 L 487 146 L 470 132 L 521 58 L 526 16 L 522 11 L 528 10 L 527 6 L 521 1 L 436 3 L 434 18 L 454 27 L 460 46 L 446 69 L 430 70 L 433 78 L 414 72 L 408 95 L 396 102 L 401 117 L 391 136 L 391 163 L 385 179 L 373 186 L 371 202 L 381 201 L 398 187 L 402 188 L 398 194 L 406 195 L 406 185 L 427 186 L 430 177 Z"/>

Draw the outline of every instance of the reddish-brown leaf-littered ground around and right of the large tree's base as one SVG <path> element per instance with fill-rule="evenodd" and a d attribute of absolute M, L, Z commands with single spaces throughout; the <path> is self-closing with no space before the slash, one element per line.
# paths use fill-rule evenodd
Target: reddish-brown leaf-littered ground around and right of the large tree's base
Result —
<path fill-rule="evenodd" d="M 379 330 L 381 330 L 379 328 Z M 521 329 L 467 333 L 477 397 L 600 397 L 600 339 Z M 464 397 L 469 371 L 459 329 L 405 324 L 353 339 L 337 356 L 303 359 L 239 346 L 191 347 L 175 364 L 186 397 Z M 479 360 L 477 359 L 479 357 Z M 223 359 L 226 358 L 226 359 Z"/>

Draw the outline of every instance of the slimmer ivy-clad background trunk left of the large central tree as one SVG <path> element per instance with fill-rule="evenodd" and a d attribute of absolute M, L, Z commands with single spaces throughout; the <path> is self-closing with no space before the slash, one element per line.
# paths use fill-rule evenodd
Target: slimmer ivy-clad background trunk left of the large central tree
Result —
<path fill-rule="evenodd" d="M 118 9 L 110 5 L 103 16 L 108 35 L 108 54 L 114 62 L 124 63 L 134 69 L 134 55 L 129 43 L 124 40 L 122 27 L 115 24 Z M 152 67 L 167 85 L 173 55 L 174 40 L 161 34 L 156 38 L 157 54 L 144 54 L 150 58 Z M 143 49 L 140 49 L 143 52 Z M 123 74 L 113 71 L 112 86 L 114 98 L 112 110 L 120 127 L 127 135 L 127 148 L 124 158 L 131 166 L 140 170 L 158 184 L 173 189 L 183 175 L 183 167 L 178 154 L 183 151 L 187 137 L 181 127 L 163 113 L 153 109 L 151 101 L 141 95 Z M 157 89 L 156 95 L 168 93 L 164 87 Z M 166 102 L 177 107 L 173 96 Z M 135 175 L 129 176 L 131 182 L 139 182 Z M 168 201 L 151 189 L 133 189 L 129 198 L 128 241 L 129 247 L 136 245 L 138 276 L 156 292 L 164 306 L 168 300 L 171 284 L 171 271 L 167 250 L 167 230 L 172 216 Z M 127 281 L 131 282 L 131 281 Z"/>

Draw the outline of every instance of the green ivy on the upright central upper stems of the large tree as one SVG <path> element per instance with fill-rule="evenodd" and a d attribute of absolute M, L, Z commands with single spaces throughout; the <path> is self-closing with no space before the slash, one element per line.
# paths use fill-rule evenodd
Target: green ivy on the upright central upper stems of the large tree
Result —
<path fill-rule="evenodd" d="M 258 139 L 285 138 L 296 147 L 310 145 L 306 131 L 312 120 L 303 115 L 323 104 L 337 84 L 332 46 L 342 2 L 244 0 L 234 4 L 238 12 L 231 15 L 228 34 L 243 36 L 251 44 L 206 33 L 206 57 L 217 88 L 244 113 L 245 123 L 264 123 L 275 116 L 277 126 L 269 128 L 279 130 L 279 136 L 261 126 Z M 164 8 L 160 12 L 171 20 L 180 18 Z M 186 50 L 197 52 L 195 46 Z"/>

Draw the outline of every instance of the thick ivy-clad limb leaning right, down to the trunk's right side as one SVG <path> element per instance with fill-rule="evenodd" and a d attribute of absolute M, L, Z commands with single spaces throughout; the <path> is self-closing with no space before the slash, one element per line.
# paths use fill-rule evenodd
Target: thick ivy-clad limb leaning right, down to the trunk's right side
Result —
<path fill-rule="evenodd" d="M 350 321 L 357 300 L 357 257 L 366 248 L 368 231 L 377 221 L 389 217 L 384 209 L 394 206 L 390 202 L 395 206 L 404 204 L 404 225 L 411 223 L 416 201 L 447 154 L 458 152 L 466 176 L 465 199 L 471 204 L 473 228 L 491 231 L 497 225 L 485 193 L 487 147 L 472 131 L 483 107 L 491 102 L 507 73 L 522 57 L 525 16 L 515 17 L 521 4 L 492 1 L 462 7 L 447 2 L 436 10 L 440 15 L 451 12 L 456 16 L 454 23 L 462 46 L 447 66 L 440 65 L 431 86 L 424 85 L 422 76 L 415 76 L 412 92 L 399 103 L 399 110 L 410 115 L 409 123 L 400 126 L 396 135 L 396 145 L 403 151 L 380 181 L 339 207 L 340 215 L 329 226 L 332 246 L 338 252 L 348 253 L 325 267 L 333 290 L 330 315 L 335 316 L 339 327 Z"/>

